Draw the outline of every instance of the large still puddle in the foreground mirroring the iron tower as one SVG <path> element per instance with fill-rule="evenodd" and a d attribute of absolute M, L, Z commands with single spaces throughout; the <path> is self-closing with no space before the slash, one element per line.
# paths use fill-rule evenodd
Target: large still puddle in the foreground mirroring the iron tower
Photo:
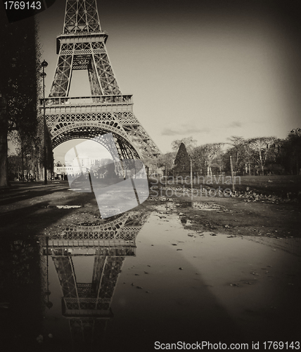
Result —
<path fill-rule="evenodd" d="M 44 320 L 34 332 L 46 348 L 222 341 L 251 349 L 299 336 L 300 239 L 186 230 L 172 210 L 72 226 L 34 245 L 44 275 Z"/>

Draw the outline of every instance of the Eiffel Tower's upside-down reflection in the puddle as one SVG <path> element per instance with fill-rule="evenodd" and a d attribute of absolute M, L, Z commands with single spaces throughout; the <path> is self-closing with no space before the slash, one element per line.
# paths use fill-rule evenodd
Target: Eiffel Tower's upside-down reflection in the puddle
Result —
<path fill-rule="evenodd" d="M 136 256 L 136 237 L 147 218 L 148 213 L 123 213 L 101 225 L 74 225 L 60 237 L 46 238 L 43 249 L 47 260 L 46 293 L 48 297 L 51 294 L 48 278 L 51 257 L 61 288 L 62 315 L 68 320 L 76 348 L 91 351 L 103 341 L 108 320 L 113 318 L 110 304 L 123 261 L 127 256 Z M 79 261 L 75 258 L 83 256 L 94 257 L 91 282 L 77 282 L 76 273 L 83 268 L 77 268 Z M 84 271 L 87 273 L 87 268 Z M 46 306 L 52 306 L 49 298 Z"/>

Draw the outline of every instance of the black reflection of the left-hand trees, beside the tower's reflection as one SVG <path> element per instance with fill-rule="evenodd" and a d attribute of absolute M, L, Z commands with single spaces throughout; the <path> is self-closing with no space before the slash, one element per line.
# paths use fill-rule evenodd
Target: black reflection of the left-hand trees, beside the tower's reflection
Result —
<path fill-rule="evenodd" d="M 37 239 L 11 236 L 1 236 L 0 339 L 3 351 L 20 351 L 34 346 L 43 320 L 40 249 Z"/>

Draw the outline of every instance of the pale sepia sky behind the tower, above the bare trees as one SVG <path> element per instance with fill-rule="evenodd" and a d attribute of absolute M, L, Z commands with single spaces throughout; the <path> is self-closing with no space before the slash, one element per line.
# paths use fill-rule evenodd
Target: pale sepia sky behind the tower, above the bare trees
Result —
<path fill-rule="evenodd" d="M 286 138 L 301 127 L 298 0 L 98 1 L 122 94 L 162 153 L 175 139 L 197 145 L 239 136 Z M 46 96 L 56 69 L 65 1 L 39 19 Z M 70 96 L 89 96 L 74 71 Z M 55 150 L 56 152 L 56 150 Z M 55 153 L 56 158 L 56 153 Z"/>

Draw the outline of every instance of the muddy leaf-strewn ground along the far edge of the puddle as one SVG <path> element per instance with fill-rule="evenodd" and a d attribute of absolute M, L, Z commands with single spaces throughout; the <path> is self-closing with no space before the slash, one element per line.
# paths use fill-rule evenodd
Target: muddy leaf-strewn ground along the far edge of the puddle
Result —
<path fill-rule="evenodd" d="M 13 184 L 0 192 L 1 234 L 27 237 L 60 234 L 70 225 L 102 222 L 93 193 L 68 190 L 68 182 Z M 193 197 L 177 193 L 165 196 L 165 189 L 151 192 L 148 200 L 134 208 L 148 211 L 164 205 L 179 213 L 191 230 L 212 231 L 238 236 L 300 237 L 299 203 L 250 201 L 233 197 Z M 81 206 L 62 208 L 58 206 Z M 164 212 L 163 212 L 164 213 Z"/>

